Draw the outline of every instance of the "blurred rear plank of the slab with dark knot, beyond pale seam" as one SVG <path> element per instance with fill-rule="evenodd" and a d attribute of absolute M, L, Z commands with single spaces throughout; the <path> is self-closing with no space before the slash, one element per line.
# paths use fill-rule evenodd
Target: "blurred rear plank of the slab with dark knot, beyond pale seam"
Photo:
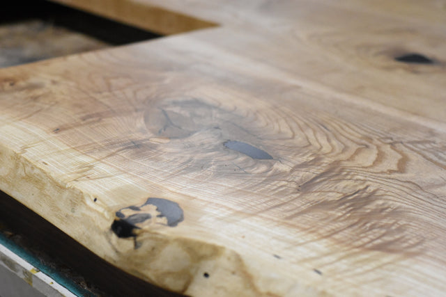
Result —
<path fill-rule="evenodd" d="M 228 34 L 208 35 L 206 43 L 217 43 L 220 50 L 229 47 L 231 52 L 261 60 L 275 71 L 285 70 L 294 78 L 322 84 L 330 92 L 352 93 L 440 122 L 446 118 L 445 96 L 437 91 L 446 84 L 446 76 L 441 75 L 446 52 L 444 1 L 192 1 L 188 5 L 178 0 L 57 1 L 125 22 L 141 18 L 141 8 L 130 13 L 135 5 L 187 12 L 233 28 Z M 171 33 L 164 22 L 152 22 L 148 13 L 144 15 L 146 22 L 137 25 Z M 188 22 L 172 23 L 178 27 L 174 33 L 190 31 L 181 27 Z M 395 61 L 414 53 L 433 63 Z"/>

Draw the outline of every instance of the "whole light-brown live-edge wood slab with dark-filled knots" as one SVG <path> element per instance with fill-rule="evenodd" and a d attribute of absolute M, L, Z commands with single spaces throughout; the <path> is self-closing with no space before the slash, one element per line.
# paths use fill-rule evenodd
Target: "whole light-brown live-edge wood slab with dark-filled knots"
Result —
<path fill-rule="evenodd" d="M 0 70 L 0 188 L 192 296 L 446 291 L 445 1 L 59 1 L 153 41 Z"/>

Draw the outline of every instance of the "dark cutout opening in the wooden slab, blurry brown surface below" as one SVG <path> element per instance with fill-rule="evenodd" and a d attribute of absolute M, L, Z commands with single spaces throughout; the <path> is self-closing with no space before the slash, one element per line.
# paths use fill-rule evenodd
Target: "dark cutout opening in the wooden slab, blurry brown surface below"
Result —
<path fill-rule="evenodd" d="M 159 37 L 49 1 L 17 0 L 0 10 L 0 67 Z"/>

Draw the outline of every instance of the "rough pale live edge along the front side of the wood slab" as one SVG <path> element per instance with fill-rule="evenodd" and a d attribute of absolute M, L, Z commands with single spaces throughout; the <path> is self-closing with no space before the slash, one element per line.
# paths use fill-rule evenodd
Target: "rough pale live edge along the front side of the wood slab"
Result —
<path fill-rule="evenodd" d="M 245 255 L 242 257 L 233 250 L 197 239 L 145 231 L 138 238 L 144 244 L 129 249 L 130 239 L 118 238 L 110 228 L 116 218 L 114 212 L 104 209 L 101 213 L 90 207 L 88 193 L 67 187 L 3 145 L 0 145 L 0 163 L 3 164 L 0 170 L 2 191 L 26 207 L 32 205 L 33 211 L 63 232 L 76 230 L 69 235 L 82 246 L 151 284 L 191 296 L 328 295 L 296 282 L 293 277 L 286 278 L 277 269 L 263 268 L 260 262 L 253 262 L 254 259 Z M 51 197 L 59 197 L 59 200 Z M 71 210 L 66 209 L 68 200 Z M 72 225 L 79 225 L 80 218 L 82 229 L 73 228 Z M 99 246 L 102 250 L 97 249 Z M 225 285 L 229 283 L 231 286 Z"/>

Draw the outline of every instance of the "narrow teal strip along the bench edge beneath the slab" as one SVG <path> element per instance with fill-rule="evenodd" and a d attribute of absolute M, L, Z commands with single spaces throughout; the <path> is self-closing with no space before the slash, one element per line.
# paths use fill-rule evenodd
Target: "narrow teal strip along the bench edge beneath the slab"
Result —
<path fill-rule="evenodd" d="M 50 278 L 52 278 L 55 282 L 60 284 L 61 286 L 65 287 L 70 291 L 72 294 L 75 294 L 76 296 L 87 296 L 87 297 L 94 297 L 95 294 L 91 293 L 91 291 L 87 291 L 86 289 L 79 287 L 79 285 L 75 284 L 72 280 L 65 278 L 61 275 L 61 273 L 58 273 L 53 268 L 43 264 L 38 257 L 35 255 L 32 255 L 31 252 L 27 252 L 22 248 L 21 246 L 17 245 L 15 242 L 8 239 L 6 236 L 0 233 L 0 243 L 3 244 L 3 246 L 6 246 L 9 250 L 15 253 L 15 255 L 21 257 L 26 262 L 34 266 L 35 268 L 38 268 L 38 270 L 42 271 L 46 275 L 48 275 Z"/>

